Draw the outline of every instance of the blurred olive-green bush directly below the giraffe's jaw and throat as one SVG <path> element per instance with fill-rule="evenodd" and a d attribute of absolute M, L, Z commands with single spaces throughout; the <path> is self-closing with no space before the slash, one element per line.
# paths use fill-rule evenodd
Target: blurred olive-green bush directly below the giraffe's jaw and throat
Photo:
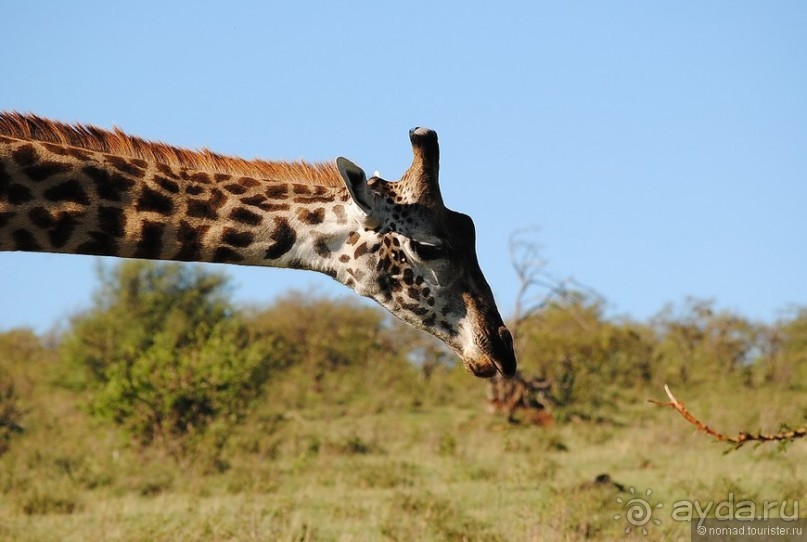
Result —
<path fill-rule="evenodd" d="M 248 322 L 257 340 L 284 346 L 287 370 L 273 379 L 271 394 L 286 407 L 363 403 L 377 410 L 413 400 L 411 335 L 374 305 L 293 291 Z"/>

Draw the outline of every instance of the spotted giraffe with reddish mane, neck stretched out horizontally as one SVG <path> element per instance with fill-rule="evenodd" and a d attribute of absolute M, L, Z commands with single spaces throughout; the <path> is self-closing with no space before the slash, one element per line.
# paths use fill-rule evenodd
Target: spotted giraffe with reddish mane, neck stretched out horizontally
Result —
<path fill-rule="evenodd" d="M 474 224 L 443 204 L 437 134 L 398 181 L 346 158 L 245 160 L 119 129 L 0 113 L 0 250 L 294 268 L 330 275 L 488 378 L 516 371 Z"/>

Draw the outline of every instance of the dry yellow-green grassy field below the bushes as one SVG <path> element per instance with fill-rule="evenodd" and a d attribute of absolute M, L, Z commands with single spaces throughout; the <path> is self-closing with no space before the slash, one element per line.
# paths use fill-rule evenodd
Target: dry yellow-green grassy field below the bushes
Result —
<path fill-rule="evenodd" d="M 410 404 L 295 409 L 279 394 L 220 457 L 182 461 L 132 446 L 74 392 L 28 390 L 26 431 L 0 457 L 0 539 L 689 540 L 689 524 L 671 517 L 682 500 L 807 508 L 805 442 L 726 454 L 644 393 L 607 421 L 536 427 L 487 414 L 482 382 L 454 402 L 424 389 Z M 793 391 L 675 391 L 728 433 L 807 417 Z M 601 474 L 622 490 L 593 483 Z M 644 525 L 625 518 L 637 496 L 662 504 Z"/>

